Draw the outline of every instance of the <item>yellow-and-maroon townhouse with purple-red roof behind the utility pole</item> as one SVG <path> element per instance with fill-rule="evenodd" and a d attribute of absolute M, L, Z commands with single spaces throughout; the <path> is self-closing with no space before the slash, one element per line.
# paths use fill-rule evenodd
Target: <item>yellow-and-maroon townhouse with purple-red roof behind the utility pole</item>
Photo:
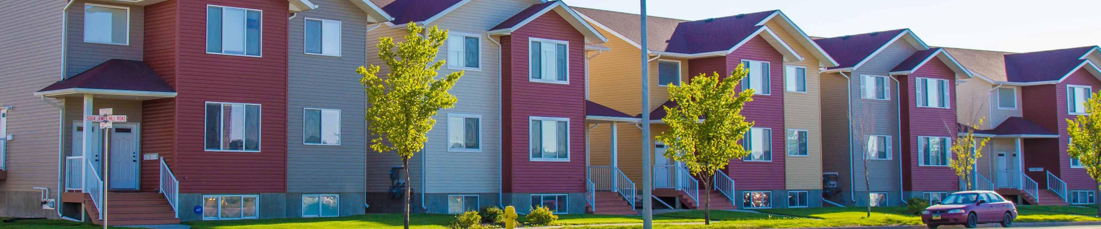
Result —
<path fill-rule="evenodd" d="M 732 160 L 716 175 L 718 188 L 711 196 L 715 208 L 772 208 L 821 206 L 821 138 L 817 99 L 818 68 L 837 64 L 803 31 L 778 10 L 724 18 L 687 21 L 648 17 L 650 43 L 639 45 L 637 14 L 596 9 L 578 9 L 587 20 L 609 37 L 610 52 L 589 62 L 590 100 L 626 113 L 650 112 L 652 135 L 667 128 L 662 123 L 663 107 L 675 107 L 664 89 L 667 85 L 689 81 L 699 74 L 728 76 L 739 65 L 750 75 L 739 90 L 753 88 L 754 101 L 742 110 L 746 121 L 755 122 L 746 134 L 750 156 Z M 722 39 L 716 39 L 722 37 Z M 651 110 L 639 103 L 641 74 L 639 54 L 650 53 Z M 634 74 L 632 74 L 634 73 Z M 806 101 L 806 100 L 809 100 Z M 637 116 L 636 116 L 637 117 Z M 591 145 L 606 145 L 615 134 L 617 150 L 593 146 L 590 172 L 592 181 L 608 181 L 607 174 L 625 174 L 641 188 L 639 166 L 642 149 L 654 152 L 654 195 L 666 207 L 698 208 L 705 194 L 697 177 L 687 174 L 680 163 L 664 156 L 665 145 L 642 145 L 641 131 L 630 126 L 592 127 Z M 612 129 L 615 130 L 615 129 Z M 612 173 L 600 173 L 600 166 Z M 625 165 L 625 166 L 619 166 Z M 618 179 L 618 178 L 617 178 Z M 617 181 L 612 179 L 612 181 Z M 617 181 L 618 182 L 618 181 Z M 599 186 L 599 184 L 598 184 Z M 786 198 L 785 198 L 786 197 Z M 650 200 L 640 197 L 640 200 Z M 661 205 L 658 205 L 661 206 Z"/>

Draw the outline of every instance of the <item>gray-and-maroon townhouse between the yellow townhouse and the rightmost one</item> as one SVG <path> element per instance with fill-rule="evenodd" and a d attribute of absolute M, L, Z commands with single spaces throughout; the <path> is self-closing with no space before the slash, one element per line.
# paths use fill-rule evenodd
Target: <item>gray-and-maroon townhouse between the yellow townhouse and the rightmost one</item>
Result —
<path fill-rule="evenodd" d="M 842 205 L 897 206 L 959 189 L 948 161 L 957 79 L 971 75 L 908 29 L 815 40 L 838 63 L 822 72 L 824 174 Z M 865 165 L 866 162 L 866 165 Z M 866 176 L 866 182 L 865 182 Z"/>

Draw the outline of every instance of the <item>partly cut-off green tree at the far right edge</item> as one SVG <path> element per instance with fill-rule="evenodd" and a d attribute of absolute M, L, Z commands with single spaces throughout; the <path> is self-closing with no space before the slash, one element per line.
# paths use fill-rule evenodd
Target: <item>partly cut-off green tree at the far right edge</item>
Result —
<path fill-rule="evenodd" d="M 1093 94 L 1086 101 L 1086 113 L 1067 119 L 1067 132 L 1070 133 L 1070 145 L 1067 146 L 1067 154 L 1071 159 L 1077 159 L 1086 172 L 1093 178 L 1094 201 L 1098 206 L 1098 216 L 1101 217 L 1101 186 L 1097 183 L 1101 181 L 1101 91 Z"/>

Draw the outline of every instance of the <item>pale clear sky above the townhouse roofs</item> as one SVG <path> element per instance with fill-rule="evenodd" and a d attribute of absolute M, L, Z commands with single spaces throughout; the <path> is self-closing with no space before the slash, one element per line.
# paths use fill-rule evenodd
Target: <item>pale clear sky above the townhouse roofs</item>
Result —
<path fill-rule="evenodd" d="M 564 0 L 639 13 L 639 0 Z M 647 13 L 701 20 L 783 10 L 808 35 L 909 28 L 933 46 L 1034 52 L 1101 45 L 1101 0 L 648 0 Z"/>

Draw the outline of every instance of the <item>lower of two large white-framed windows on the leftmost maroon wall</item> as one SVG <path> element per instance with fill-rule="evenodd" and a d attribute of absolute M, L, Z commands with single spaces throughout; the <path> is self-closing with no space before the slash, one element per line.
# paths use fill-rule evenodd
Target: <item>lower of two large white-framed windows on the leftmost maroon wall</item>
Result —
<path fill-rule="evenodd" d="M 260 152 L 260 105 L 206 102 L 206 151 Z"/>

